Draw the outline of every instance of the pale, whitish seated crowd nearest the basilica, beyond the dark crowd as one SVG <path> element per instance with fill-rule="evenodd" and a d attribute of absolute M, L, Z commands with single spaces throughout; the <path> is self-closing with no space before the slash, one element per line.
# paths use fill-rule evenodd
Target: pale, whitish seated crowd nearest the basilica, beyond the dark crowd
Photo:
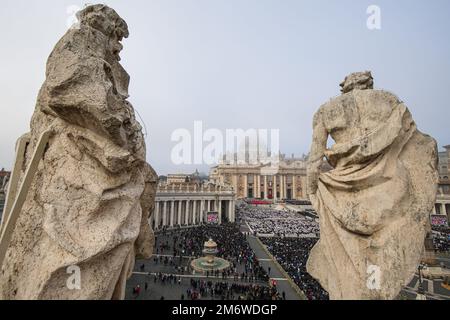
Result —
<path fill-rule="evenodd" d="M 319 224 L 315 219 L 287 209 L 241 205 L 237 208 L 237 215 L 257 236 L 291 238 L 319 236 Z"/>

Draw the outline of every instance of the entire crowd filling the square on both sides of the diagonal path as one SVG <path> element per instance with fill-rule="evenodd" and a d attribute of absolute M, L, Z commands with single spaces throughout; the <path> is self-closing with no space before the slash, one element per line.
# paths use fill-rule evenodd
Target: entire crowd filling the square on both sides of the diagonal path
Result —
<path fill-rule="evenodd" d="M 250 234 L 260 238 L 307 299 L 329 299 L 328 293 L 306 270 L 310 252 L 320 237 L 314 215 L 243 202 L 237 206 L 236 216 L 237 223 L 234 224 L 159 231 L 153 265 L 157 270 L 171 274 L 158 271 L 149 282 L 178 287 L 176 294 L 180 294 L 182 300 L 286 299 L 285 293 L 280 294 L 276 285 L 269 285 L 270 268 L 266 272 L 251 249 L 249 233 L 245 231 L 248 227 Z M 218 244 L 217 256 L 229 261 L 230 268 L 207 273 L 206 278 L 193 279 L 190 261 L 204 256 L 205 242 L 210 239 Z M 433 227 L 433 240 L 436 252 L 450 252 L 450 228 Z M 145 273 L 144 264 L 140 271 Z M 134 296 L 149 290 L 147 282 L 141 286 L 133 288 Z"/>

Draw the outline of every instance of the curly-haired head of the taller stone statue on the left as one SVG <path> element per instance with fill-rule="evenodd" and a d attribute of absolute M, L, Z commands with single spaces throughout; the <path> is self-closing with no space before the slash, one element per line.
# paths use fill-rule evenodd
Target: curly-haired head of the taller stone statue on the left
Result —
<path fill-rule="evenodd" d="M 111 52 L 120 60 L 119 53 L 122 50 L 120 41 L 128 38 L 128 25 L 114 9 L 103 5 L 96 4 L 88 6 L 77 13 L 81 26 L 89 26 L 103 33 L 110 39 Z"/>

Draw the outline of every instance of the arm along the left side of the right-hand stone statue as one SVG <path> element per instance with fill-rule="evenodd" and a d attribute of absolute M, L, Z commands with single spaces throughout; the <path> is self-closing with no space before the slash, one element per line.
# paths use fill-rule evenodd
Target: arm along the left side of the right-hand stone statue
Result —
<path fill-rule="evenodd" d="M 314 116 L 313 141 L 308 160 L 307 186 L 308 195 L 316 194 L 320 167 L 327 148 L 328 131 L 323 123 L 320 111 Z"/>

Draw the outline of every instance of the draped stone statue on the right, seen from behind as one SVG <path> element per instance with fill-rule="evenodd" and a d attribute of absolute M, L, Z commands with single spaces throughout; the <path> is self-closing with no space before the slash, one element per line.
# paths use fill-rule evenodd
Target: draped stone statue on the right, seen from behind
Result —
<path fill-rule="evenodd" d="M 437 145 L 396 96 L 373 90 L 370 72 L 341 86 L 314 117 L 308 193 L 321 238 L 307 268 L 331 299 L 394 299 L 423 252 Z M 324 157 L 333 169 L 321 173 Z"/>

